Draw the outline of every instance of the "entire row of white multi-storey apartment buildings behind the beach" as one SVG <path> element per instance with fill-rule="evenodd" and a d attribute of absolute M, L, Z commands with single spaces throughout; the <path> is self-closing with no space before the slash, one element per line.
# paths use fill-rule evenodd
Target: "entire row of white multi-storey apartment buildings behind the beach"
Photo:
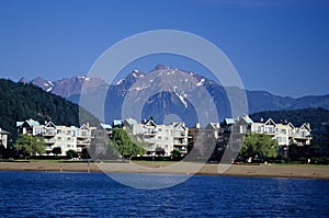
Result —
<path fill-rule="evenodd" d="M 172 151 L 179 151 L 182 156 L 188 154 L 192 148 L 197 147 L 202 154 L 208 154 L 217 144 L 228 144 L 230 136 L 241 142 L 246 133 L 270 135 L 279 142 L 282 150 L 287 150 L 288 145 L 310 145 L 311 129 L 309 124 L 295 127 L 292 123 L 275 123 L 273 119 L 253 122 L 249 116 L 238 118 L 225 118 L 223 124 L 209 123 L 201 127 L 186 127 L 184 123 L 171 123 L 169 125 L 156 124 L 150 118 L 138 123 L 133 118 L 114 121 L 112 126 L 101 124 L 101 129 L 83 124 L 80 127 L 55 125 L 53 122 L 39 124 L 36 121 L 27 119 L 16 122 L 19 135 L 42 136 L 46 144 L 46 153 L 52 154 L 54 148 L 60 148 L 61 154 L 68 150 L 82 152 L 92 144 L 97 147 L 98 153 L 104 153 L 105 147 L 101 141 L 111 135 L 112 127 L 124 128 L 134 140 L 143 142 L 147 156 L 171 156 Z M 104 131 L 105 129 L 105 131 Z M 326 129 L 325 129 L 326 130 Z M 328 135 L 328 131 L 324 134 Z M 240 137 L 240 138 L 239 138 Z M 101 139 L 101 140 L 100 140 Z M 8 133 L 0 129 L 0 145 L 7 147 Z"/>

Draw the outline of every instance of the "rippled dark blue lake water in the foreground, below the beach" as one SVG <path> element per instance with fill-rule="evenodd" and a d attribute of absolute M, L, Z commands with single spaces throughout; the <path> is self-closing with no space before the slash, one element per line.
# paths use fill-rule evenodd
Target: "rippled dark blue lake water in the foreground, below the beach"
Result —
<path fill-rule="evenodd" d="M 195 175 L 146 191 L 102 173 L 0 172 L 0 217 L 329 217 L 329 181 Z"/>

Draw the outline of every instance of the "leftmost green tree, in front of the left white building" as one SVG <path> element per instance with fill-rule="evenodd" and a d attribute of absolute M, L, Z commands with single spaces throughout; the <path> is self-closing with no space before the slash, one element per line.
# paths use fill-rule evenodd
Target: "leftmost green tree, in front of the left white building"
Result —
<path fill-rule="evenodd" d="M 14 148 L 19 150 L 24 158 L 46 152 L 44 139 L 42 137 L 33 137 L 29 135 L 20 136 L 14 144 Z"/>

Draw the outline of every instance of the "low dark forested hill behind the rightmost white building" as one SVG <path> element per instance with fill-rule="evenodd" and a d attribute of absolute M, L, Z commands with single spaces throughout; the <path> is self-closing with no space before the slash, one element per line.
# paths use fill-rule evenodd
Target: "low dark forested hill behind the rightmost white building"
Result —
<path fill-rule="evenodd" d="M 311 129 L 321 126 L 321 123 L 329 122 L 329 111 L 325 108 L 302 108 L 291 111 L 266 111 L 250 115 L 254 122 L 260 122 L 272 118 L 275 123 L 291 122 L 294 126 L 300 126 L 304 123 L 309 123 Z"/>

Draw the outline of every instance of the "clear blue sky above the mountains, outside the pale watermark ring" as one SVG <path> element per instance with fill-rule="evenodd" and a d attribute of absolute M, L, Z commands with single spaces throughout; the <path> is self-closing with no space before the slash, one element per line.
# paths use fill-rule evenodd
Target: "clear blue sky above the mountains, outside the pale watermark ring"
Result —
<path fill-rule="evenodd" d="M 326 0 L 0 0 L 0 77 L 87 74 L 111 45 L 159 28 L 217 45 L 249 90 L 329 94 Z"/>

